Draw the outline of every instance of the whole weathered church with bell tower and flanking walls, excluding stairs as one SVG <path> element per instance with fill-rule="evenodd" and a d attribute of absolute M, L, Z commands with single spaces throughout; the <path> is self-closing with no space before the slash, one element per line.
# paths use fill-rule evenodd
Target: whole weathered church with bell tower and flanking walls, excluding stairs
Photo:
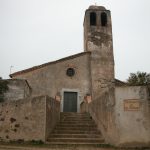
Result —
<path fill-rule="evenodd" d="M 6 102 L 0 104 L 0 139 L 46 141 L 61 120 L 60 112 L 71 112 L 73 118 L 88 112 L 106 143 L 150 145 L 147 87 L 128 86 L 114 77 L 111 12 L 90 6 L 83 25 L 84 52 L 10 75 Z M 9 120 L 18 121 L 19 129 L 10 127 Z"/>

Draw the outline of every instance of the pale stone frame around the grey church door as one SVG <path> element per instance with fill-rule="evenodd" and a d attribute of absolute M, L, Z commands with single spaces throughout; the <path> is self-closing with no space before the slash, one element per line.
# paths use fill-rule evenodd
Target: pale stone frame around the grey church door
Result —
<path fill-rule="evenodd" d="M 80 99 L 79 99 L 79 89 L 62 89 L 61 91 L 61 101 L 60 101 L 60 111 L 63 112 L 64 108 L 64 93 L 65 92 L 76 92 L 77 93 L 77 112 L 80 112 Z"/>

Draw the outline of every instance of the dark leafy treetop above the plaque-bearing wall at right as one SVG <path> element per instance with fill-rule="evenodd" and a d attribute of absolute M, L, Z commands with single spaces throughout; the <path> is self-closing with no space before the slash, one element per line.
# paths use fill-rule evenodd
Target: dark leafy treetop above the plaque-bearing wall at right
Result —
<path fill-rule="evenodd" d="M 140 72 L 130 73 L 127 79 L 129 85 L 148 85 L 150 84 L 150 73 Z"/>

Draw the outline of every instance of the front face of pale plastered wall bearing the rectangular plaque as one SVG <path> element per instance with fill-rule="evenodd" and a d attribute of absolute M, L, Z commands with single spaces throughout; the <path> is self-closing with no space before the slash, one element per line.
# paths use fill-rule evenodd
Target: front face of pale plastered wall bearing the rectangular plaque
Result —
<path fill-rule="evenodd" d="M 117 87 L 116 123 L 119 145 L 150 145 L 150 105 L 147 87 Z"/>

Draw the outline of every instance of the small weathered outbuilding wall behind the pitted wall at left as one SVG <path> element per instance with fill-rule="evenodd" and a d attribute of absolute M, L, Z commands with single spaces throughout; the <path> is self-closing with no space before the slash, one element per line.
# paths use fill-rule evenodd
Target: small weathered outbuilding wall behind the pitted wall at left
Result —
<path fill-rule="evenodd" d="M 7 86 L 8 91 L 4 93 L 4 99 L 5 101 L 11 100 L 18 100 L 27 98 L 31 94 L 31 88 L 28 85 L 28 82 L 26 80 L 22 79 L 8 79 Z"/>

